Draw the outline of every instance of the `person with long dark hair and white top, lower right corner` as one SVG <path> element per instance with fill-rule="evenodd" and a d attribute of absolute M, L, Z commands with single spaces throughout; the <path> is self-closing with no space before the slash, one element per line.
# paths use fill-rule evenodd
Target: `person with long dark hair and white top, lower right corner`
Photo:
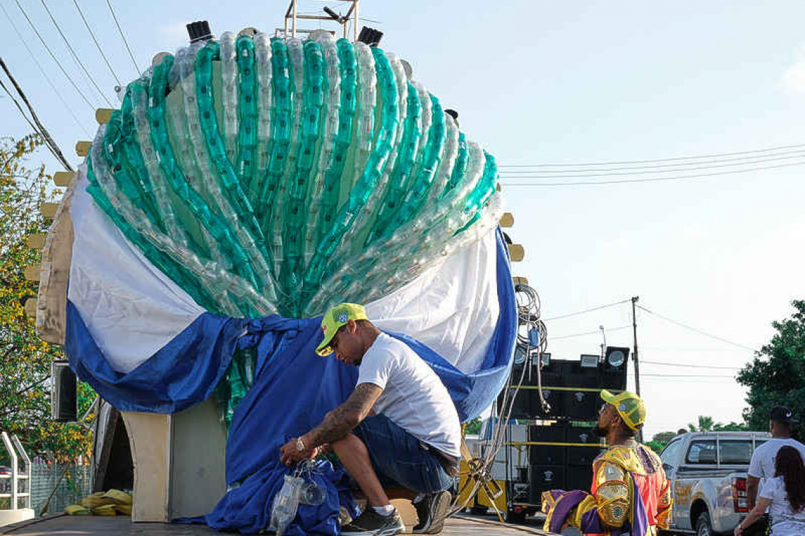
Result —
<path fill-rule="evenodd" d="M 766 509 L 770 510 L 770 536 L 805 534 L 805 463 L 799 451 L 790 445 L 778 450 L 774 457 L 774 476 L 766 478 L 757 504 L 735 527 L 734 536 L 741 536 Z"/>

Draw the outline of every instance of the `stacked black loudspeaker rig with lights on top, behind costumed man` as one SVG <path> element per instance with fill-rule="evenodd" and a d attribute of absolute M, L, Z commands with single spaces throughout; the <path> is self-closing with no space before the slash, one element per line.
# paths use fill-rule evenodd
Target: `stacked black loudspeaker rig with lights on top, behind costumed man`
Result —
<path fill-rule="evenodd" d="M 540 505 L 543 491 L 550 489 L 590 489 L 592 460 L 604 449 L 601 438 L 592 432 L 604 403 L 601 390 L 625 391 L 628 358 L 629 348 L 608 346 L 603 358 L 585 354 L 576 361 L 540 354 L 515 361 L 508 385 L 510 394 L 517 390 L 510 422 L 528 420 L 528 440 L 507 445 L 527 448 L 528 468 L 517 468 L 510 487 L 519 485 L 522 489 L 527 483 L 528 504 Z M 539 400 L 539 362 L 543 364 L 543 397 L 550 411 L 545 411 Z M 498 399 L 499 411 L 501 403 L 502 398 Z M 518 497 L 523 495 L 518 493 Z"/>

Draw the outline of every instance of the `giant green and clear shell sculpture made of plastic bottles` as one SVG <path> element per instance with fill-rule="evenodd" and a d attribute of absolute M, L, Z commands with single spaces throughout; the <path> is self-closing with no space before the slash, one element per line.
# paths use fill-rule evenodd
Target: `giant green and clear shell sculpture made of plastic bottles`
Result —
<path fill-rule="evenodd" d="M 487 234 L 497 168 L 394 54 L 264 34 L 195 43 L 128 85 L 89 193 L 209 312 L 315 317 Z"/>

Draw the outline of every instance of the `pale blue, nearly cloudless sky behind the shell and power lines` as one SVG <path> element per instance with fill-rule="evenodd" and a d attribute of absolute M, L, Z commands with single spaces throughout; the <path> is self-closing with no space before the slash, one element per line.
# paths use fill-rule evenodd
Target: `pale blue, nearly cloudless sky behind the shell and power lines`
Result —
<path fill-rule="evenodd" d="M 93 102 L 40 2 L 19 0 Z M 142 68 L 159 51 L 184 45 L 184 24 L 213 31 L 282 26 L 285 2 L 112 2 Z M 36 59 L 80 118 L 47 86 L 0 13 L 0 54 L 65 153 L 93 108 L 72 90 L 14 0 L 0 0 Z M 114 78 L 72 2 L 47 2 L 72 47 L 112 100 Z M 80 0 L 124 82 L 137 76 L 102 0 Z M 325 2 L 301 2 L 300 11 Z M 330 2 L 336 7 L 336 2 Z M 503 165 L 675 158 L 805 143 L 803 2 L 361 2 L 382 47 L 407 59 L 415 78 L 460 113 L 461 129 Z M 300 23 L 311 27 L 311 23 Z M 7 98 L 2 134 L 27 133 Z M 801 148 L 800 148 L 801 149 Z M 43 155 L 47 160 L 47 157 Z M 77 158 L 71 157 L 72 162 Z M 52 162 L 47 160 L 47 162 Z M 770 162 L 770 165 L 786 160 Z M 762 164 L 760 165 L 762 166 Z M 742 346 L 759 347 L 805 297 L 802 166 L 711 178 L 609 186 L 510 186 L 504 194 L 526 248 L 515 266 L 543 300 L 546 317 L 640 296 L 640 304 Z M 544 179 L 535 179 L 544 180 Z M 591 180 L 598 180 L 593 178 Z M 630 345 L 630 308 L 619 305 L 548 322 L 550 337 L 596 331 Z M 704 338 L 638 312 L 641 358 L 741 366 L 748 350 Z M 558 358 L 597 350 L 592 334 L 549 342 Z M 740 420 L 743 391 L 734 370 L 647 364 L 647 435 L 712 415 Z"/>

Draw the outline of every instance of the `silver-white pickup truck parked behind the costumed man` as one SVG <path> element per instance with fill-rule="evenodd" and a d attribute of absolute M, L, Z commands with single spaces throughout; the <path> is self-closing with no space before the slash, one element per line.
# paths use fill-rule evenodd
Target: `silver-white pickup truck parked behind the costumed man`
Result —
<path fill-rule="evenodd" d="M 660 458 L 674 509 L 671 532 L 732 534 L 749 512 L 746 469 L 768 432 L 691 432 L 672 439 Z"/>

